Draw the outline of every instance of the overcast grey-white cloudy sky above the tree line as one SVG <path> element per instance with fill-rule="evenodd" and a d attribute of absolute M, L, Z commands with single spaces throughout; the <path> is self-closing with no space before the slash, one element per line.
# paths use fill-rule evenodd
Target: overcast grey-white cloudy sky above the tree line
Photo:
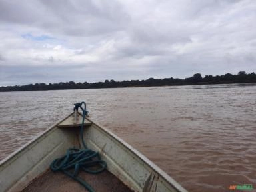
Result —
<path fill-rule="evenodd" d="M 0 0 L 0 86 L 256 72 L 256 1 Z"/>

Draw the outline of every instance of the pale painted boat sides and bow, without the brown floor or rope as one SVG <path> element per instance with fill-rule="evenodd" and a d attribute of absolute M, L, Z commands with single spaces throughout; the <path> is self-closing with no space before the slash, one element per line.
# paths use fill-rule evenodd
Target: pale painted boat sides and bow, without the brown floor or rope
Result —
<path fill-rule="evenodd" d="M 73 116 L 71 113 L 0 162 L 1 190 L 21 191 L 67 149 L 81 147 L 79 125 L 73 123 Z M 186 191 L 147 157 L 91 119 L 85 119 L 83 134 L 87 147 L 99 151 L 107 162 L 108 171 L 133 191 Z"/>

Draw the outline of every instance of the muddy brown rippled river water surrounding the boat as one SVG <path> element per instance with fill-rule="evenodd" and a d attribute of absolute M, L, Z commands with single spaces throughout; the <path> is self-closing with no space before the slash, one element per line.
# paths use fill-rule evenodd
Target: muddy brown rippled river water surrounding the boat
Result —
<path fill-rule="evenodd" d="M 188 191 L 256 190 L 256 84 L 0 93 L 0 159 L 78 101 Z"/>

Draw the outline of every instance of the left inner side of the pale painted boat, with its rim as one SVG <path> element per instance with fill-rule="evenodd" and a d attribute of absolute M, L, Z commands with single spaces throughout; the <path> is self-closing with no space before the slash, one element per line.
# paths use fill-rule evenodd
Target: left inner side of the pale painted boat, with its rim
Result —
<path fill-rule="evenodd" d="M 63 131 L 57 127 L 59 123 L 1 161 L 0 191 L 21 191 L 35 177 L 49 169 L 51 161 L 78 143 L 70 130 Z"/>

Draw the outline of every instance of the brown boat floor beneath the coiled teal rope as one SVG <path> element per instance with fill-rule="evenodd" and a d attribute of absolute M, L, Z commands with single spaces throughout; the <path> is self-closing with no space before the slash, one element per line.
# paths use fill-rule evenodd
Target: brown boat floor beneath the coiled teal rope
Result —
<path fill-rule="evenodd" d="M 111 192 L 122 191 L 130 192 L 117 177 L 105 170 L 99 174 L 89 174 L 81 171 L 79 177 L 84 179 L 95 191 Z M 22 192 L 69 192 L 69 191 L 87 191 L 83 185 L 73 180 L 62 172 L 46 171 L 43 175 L 37 177 Z"/>

